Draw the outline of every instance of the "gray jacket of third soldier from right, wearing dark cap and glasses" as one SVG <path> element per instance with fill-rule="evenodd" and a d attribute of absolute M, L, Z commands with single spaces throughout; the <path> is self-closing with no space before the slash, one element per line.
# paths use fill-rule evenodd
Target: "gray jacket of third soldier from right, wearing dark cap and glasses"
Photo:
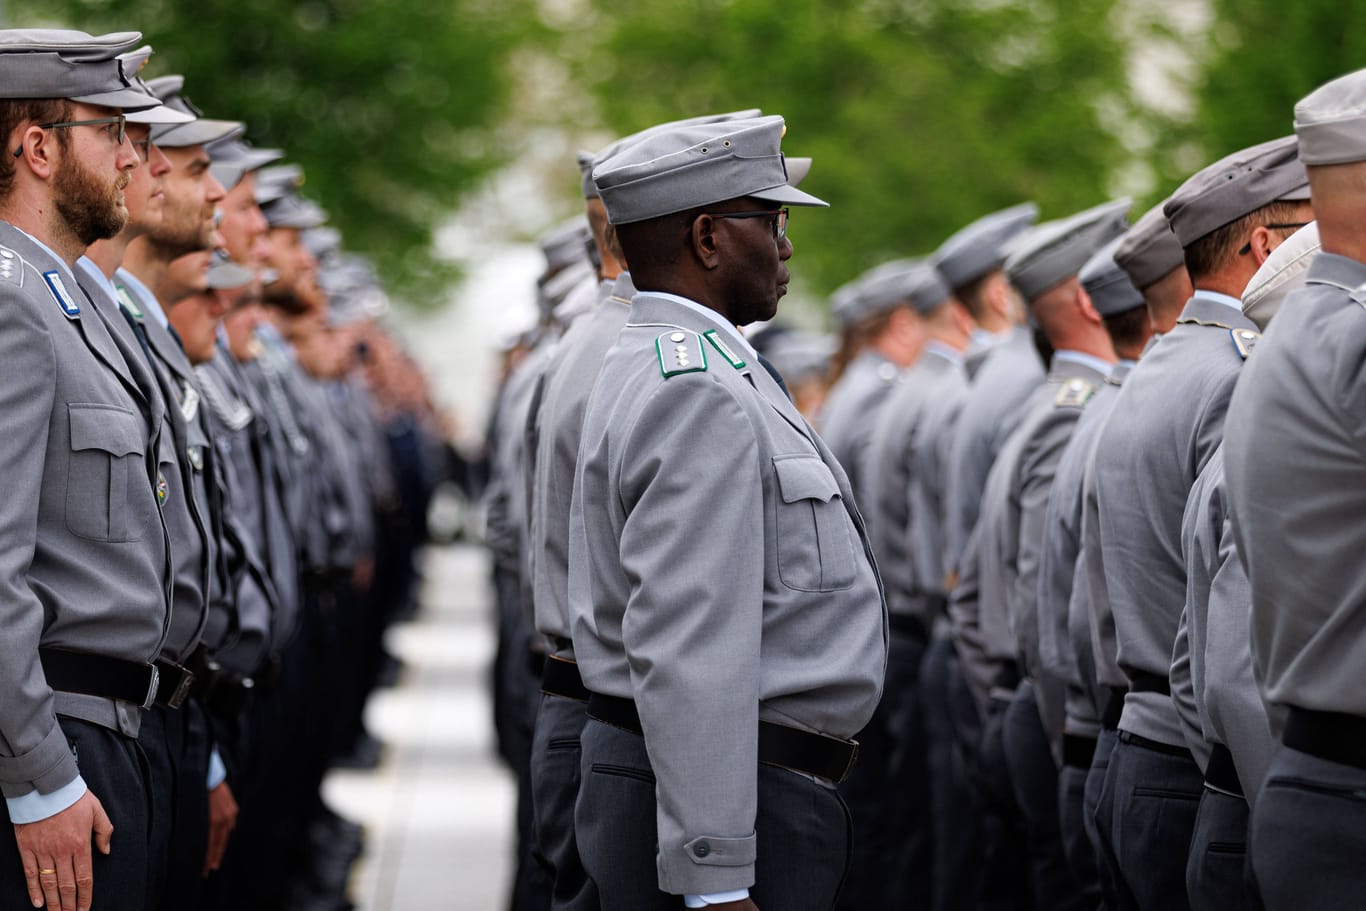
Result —
<path fill-rule="evenodd" d="M 1124 381 L 1093 463 L 1116 657 L 1130 684 L 1121 727 L 1171 746 L 1186 744 L 1162 691 L 1186 605 L 1182 516 L 1223 438 L 1243 365 L 1238 333 L 1257 331 L 1202 294 Z"/>

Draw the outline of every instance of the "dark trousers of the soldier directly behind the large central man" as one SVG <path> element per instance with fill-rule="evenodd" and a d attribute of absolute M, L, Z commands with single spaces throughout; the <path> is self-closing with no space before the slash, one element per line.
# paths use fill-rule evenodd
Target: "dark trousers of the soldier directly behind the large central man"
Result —
<path fill-rule="evenodd" d="M 597 886 L 589 880 L 574 839 L 574 802 L 579 796 L 587 703 L 541 694 L 531 738 L 531 803 L 535 852 L 555 871 L 552 911 L 597 911 Z"/>

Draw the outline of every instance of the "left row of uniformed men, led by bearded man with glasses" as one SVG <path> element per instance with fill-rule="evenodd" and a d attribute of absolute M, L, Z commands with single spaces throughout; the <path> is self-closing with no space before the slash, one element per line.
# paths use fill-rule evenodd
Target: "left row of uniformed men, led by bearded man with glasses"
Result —
<path fill-rule="evenodd" d="M 301 171 L 138 45 L 0 31 L 0 906 L 346 908 L 440 428 Z"/>

